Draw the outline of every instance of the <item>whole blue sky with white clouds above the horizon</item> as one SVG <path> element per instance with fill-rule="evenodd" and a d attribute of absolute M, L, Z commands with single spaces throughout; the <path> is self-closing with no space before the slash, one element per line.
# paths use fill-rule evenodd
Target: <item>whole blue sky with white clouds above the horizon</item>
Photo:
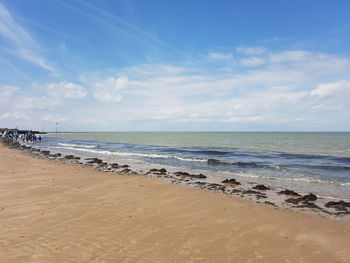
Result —
<path fill-rule="evenodd" d="M 350 131 L 350 1 L 0 0 L 0 127 Z"/>

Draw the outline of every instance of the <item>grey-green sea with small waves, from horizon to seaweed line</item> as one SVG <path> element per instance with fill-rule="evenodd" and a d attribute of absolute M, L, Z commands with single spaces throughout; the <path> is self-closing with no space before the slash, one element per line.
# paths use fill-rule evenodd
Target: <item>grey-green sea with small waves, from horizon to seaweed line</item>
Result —
<path fill-rule="evenodd" d="M 48 133 L 39 148 L 350 199 L 349 132 Z"/>

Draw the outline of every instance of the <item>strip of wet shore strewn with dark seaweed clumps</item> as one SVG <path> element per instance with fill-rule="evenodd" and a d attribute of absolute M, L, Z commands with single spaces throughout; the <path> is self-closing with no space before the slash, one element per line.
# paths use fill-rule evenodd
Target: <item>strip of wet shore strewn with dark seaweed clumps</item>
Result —
<path fill-rule="evenodd" d="M 135 167 L 126 164 L 110 163 L 96 157 L 83 158 L 77 155 L 60 151 L 52 153 L 48 150 L 35 148 L 35 144 L 27 146 L 17 142 L 8 144 L 10 147 L 22 150 L 34 157 L 76 163 L 91 166 L 106 173 L 119 173 L 125 175 L 138 175 L 153 177 L 171 184 L 184 187 L 199 188 L 214 191 L 220 194 L 248 200 L 253 203 L 263 203 L 282 210 L 291 210 L 304 214 L 316 214 L 336 220 L 350 221 L 350 200 L 320 197 L 313 193 L 300 193 L 294 189 L 271 187 L 256 182 L 237 181 L 236 178 L 214 177 L 203 174 L 203 171 L 186 170 L 178 168 L 168 170 L 162 165 L 148 165 L 145 170 L 135 170 Z M 65 155 L 66 154 L 66 155 Z M 214 160 L 215 161 L 215 160 Z M 194 173 L 195 172 L 195 173 Z M 345 201 L 344 201 L 345 200 Z"/>

